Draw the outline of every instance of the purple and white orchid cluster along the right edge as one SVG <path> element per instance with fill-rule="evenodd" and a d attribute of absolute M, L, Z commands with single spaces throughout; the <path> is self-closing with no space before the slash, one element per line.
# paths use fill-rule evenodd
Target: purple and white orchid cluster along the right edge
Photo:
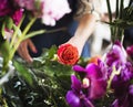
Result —
<path fill-rule="evenodd" d="M 131 49 L 129 50 L 130 53 Z M 133 78 L 133 65 L 127 61 L 127 53 L 120 42 L 115 42 L 112 50 L 106 54 L 106 68 L 109 77 L 114 72 L 120 71 L 114 75 L 111 82 L 111 88 L 114 90 L 116 99 L 111 107 L 132 107 L 133 106 L 133 88 L 131 81 Z"/>

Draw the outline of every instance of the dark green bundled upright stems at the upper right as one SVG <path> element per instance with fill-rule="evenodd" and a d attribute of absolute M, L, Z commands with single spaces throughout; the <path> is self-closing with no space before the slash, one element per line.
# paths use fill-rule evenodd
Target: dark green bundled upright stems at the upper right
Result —
<path fill-rule="evenodd" d="M 112 13 L 110 0 L 106 0 L 109 19 L 110 22 L 105 22 L 111 26 L 111 36 L 112 42 L 115 40 L 123 41 L 124 30 L 133 26 L 133 0 L 129 0 L 127 7 L 124 7 L 125 0 L 116 0 L 115 1 L 115 17 Z M 127 2 L 127 1 L 125 1 Z"/>

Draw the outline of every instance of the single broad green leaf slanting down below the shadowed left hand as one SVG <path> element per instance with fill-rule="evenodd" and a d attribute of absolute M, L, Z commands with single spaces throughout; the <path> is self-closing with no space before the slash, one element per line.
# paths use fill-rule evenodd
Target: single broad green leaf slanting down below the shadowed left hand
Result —
<path fill-rule="evenodd" d="M 30 68 L 27 68 L 24 65 L 21 63 L 13 61 L 13 65 L 17 68 L 17 71 L 20 73 L 22 77 L 32 86 L 33 81 L 35 79 L 35 76 L 33 73 L 30 71 Z"/>

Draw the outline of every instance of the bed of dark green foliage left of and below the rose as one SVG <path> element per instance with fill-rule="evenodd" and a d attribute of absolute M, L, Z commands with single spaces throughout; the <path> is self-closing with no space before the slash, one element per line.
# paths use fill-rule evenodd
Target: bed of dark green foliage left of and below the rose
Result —
<path fill-rule="evenodd" d="M 4 85 L 3 96 L 9 107 L 66 107 L 71 66 L 53 60 L 57 47 L 44 50 L 32 65 L 20 58 L 13 62 L 17 73 Z"/>

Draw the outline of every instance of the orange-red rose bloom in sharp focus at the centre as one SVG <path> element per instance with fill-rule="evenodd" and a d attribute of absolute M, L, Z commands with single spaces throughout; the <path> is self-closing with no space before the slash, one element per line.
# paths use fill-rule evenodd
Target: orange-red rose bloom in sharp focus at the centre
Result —
<path fill-rule="evenodd" d="M 71 44 L 63 44 L 58 50 L 58 60 L 62 64 L 74 65 L 79 60 L 78 49 Z"/>

